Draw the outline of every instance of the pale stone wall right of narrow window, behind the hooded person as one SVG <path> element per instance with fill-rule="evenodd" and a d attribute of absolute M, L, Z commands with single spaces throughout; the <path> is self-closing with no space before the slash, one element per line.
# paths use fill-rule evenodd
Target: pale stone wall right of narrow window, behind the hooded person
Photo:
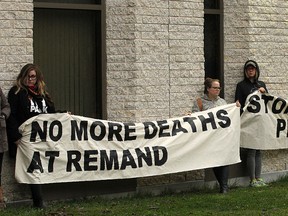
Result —
<path fill-rule="evenodd" d="M 269 92 L 287 100 L 288 1 L 224 1 L 224 37 L 225 98 L 234 100 L 243 65 L 254 59 Z M 287 153 L 263 151 L 263 172 L 287 170 Z"/>

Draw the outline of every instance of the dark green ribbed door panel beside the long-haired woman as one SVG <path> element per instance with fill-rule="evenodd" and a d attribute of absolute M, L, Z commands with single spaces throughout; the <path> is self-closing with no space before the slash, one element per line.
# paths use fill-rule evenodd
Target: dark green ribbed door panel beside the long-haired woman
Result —
<path fill-rule="evenodd" d="M 34 62 L 56 109 L 102 118 L 101 11 L 34 8 Z"/>

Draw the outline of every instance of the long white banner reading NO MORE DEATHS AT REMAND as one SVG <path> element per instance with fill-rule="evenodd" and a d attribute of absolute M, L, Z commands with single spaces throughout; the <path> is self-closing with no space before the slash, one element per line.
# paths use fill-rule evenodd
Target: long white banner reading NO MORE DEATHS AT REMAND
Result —
<path fill-rule="evenodd" d="M 19 130 L 20 183 L 137 178 L 240 162 L 235 104 L 142 123 L 42 114 Z"/>

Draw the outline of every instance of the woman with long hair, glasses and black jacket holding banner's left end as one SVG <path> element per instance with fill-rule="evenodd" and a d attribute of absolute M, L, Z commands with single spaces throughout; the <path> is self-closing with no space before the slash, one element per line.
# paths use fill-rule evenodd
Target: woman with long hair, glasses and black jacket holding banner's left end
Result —
<path fill-rule="evenodd" d="M 26 64 L 17 76 L 15 85 L 8 93 L 11 115 L 7 120 L 7 134 L 9 139 L 10 156 L 16 156 L 17 146 L 20 144 L 21 134 L 18 127 L 29 118 L 43 114 L 55 113 L 43 74 L 35 64 Z M 42 186 L 30 185 L 33 206 L 43 208 Z"/>

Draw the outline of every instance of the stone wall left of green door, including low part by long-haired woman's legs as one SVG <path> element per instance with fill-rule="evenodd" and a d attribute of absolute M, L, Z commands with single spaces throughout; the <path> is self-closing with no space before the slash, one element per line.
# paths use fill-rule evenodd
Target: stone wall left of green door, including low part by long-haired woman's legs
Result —
<path fill-rule="evenodd" d="M 0 1 L 0 86 L 7 94 L 21 67 L 33 62 L 33 0 Z M 7 201 L 30 197 L 26 185 L 16 183 L 14 160 L 4 155 L 2 185 Z"/>

